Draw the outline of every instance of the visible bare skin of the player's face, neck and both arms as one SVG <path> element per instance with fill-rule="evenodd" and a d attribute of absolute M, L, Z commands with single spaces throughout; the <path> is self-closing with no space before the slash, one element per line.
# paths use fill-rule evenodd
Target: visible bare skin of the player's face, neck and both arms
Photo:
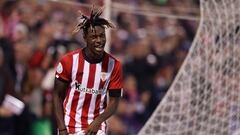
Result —
<path fill-rule="evenodd" d="M 86 56 L 93 61 L 101 59 L 104 55 L 104 47 L 106 43 L 105 29 L 101 26 L 95 26 L 94 30 L 89 28 L 84 34 L 86 47 Z M 68 84 L 55 78 L 53 102 L 58 128 L 66 129 L 63 118 L 63 101 Z M 100 114 L 85 130 L 86 135 L 96 135 L 101 123 L 106 121 L 117 110 L 119 97 L 110 97 L 109 103 L 105 111 Z M 66 130 L 59 132 L 59 135 L 68 135 Z"/>

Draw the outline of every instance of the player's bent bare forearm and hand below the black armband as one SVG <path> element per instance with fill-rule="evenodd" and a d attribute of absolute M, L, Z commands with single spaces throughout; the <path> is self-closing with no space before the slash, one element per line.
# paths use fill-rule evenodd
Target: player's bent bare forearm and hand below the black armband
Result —
<path fill-rule="evenodd" d="M 100 114 L 88 127 L 86 130 L 86 135 L 96 134 L 102 122 L 106 121 L 110 116 L 112 116 L 118 107 L 120 97 L 110 97 L 109 103 L 106 110 Z"/>

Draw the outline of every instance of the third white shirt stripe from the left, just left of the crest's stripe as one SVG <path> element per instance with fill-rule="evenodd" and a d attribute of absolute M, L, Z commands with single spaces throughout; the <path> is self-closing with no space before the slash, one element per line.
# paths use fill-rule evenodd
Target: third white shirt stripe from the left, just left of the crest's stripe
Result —
<path fill-rule="evenodd" d="M 101 79 L 101 77 L 100 77 L 101 71 L 102 71 L 102 63 L 98 63 L 96 65 L 96 73 L 95 73 L 94 86 L 93 86 L 94 90 L 99 89 L 100 79 Z M 96 105 L 96 99 L 97 99 L 97 95 L 92 94 L 92 99 L 91 99 L 90 107 L 89 107 L 89 110 L 88 110 L 88 124 L 90 124 L 93 121 L 93 118 L 94 118 L 94 110 L 95 110 L 95 105 Z"/>

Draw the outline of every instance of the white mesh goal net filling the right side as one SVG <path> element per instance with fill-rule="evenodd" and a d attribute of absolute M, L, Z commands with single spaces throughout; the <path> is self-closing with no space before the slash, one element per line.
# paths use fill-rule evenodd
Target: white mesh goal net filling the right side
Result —
<path fill-rule="evenodd" d="M 139 135 L 240 135 L 240 0 L 201 0 L 201 22 Z"/>

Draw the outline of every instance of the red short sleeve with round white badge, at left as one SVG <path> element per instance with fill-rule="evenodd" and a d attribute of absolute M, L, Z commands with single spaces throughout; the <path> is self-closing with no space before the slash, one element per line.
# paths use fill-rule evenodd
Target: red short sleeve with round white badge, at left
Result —
<path fill-rule="evenodd" d="M 71 80 L 71 59 L 67 55 L 58 62 L 55 77 L 67 82 Z"/>

